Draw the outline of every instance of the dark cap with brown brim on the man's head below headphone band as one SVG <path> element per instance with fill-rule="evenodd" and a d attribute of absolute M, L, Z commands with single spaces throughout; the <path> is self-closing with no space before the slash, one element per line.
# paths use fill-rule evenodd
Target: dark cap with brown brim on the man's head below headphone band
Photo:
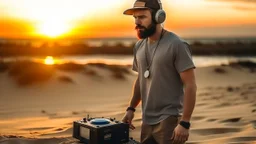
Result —
<path fill-rule="evenodd" d="M 136 0 L 133 4 L 133 8 L 125 10 L 123 14 L 133 15 L 134 11 L 138 9 L 159 10 L 161 9 L 161 2 L 160 0 Z"/>

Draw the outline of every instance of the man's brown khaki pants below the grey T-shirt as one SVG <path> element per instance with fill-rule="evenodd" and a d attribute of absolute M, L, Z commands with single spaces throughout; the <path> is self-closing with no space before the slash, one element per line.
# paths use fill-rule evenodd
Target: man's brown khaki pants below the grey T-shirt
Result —
<path fill-rule="evenodd" d="M 180 117 L 170 116 L 155 125 L 142 123 L 141 144 L 172 144 L 172 134 Z"/>

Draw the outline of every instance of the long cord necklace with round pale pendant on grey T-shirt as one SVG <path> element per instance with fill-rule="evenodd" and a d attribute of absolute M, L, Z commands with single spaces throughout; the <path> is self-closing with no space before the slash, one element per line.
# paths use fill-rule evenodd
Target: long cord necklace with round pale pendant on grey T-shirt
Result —
<path fill-rule="evenodd" d="M 162 29 L 160 39 L 158 40 L 157 45 L 156 45 L 156 48 L 155 48 L 154 51 L 153 51 L 153 55 L 152 55 L 152 57 L 151 57 L 150 63 L 148 62 L 148 39 L 146 40 L 145 56 L 146 56 L 147 69 L 146 69 L 146 71 L 144 72 L 144 77 L 145 77 L 145 78 L 149 78 L 149 76 L 150 76 L 150 71 L 149 71 L 149 69 L 150 69 L 150 66 L 151 66 L 151 64 L 152 64 L 153 58 L 154 58 L 154 56 L 155 56 L 156 49 L 157 49 L 157 47 L 158 47 L 158 45 L 159 45 L 159 43 L 160 43 L 160 41 L 161 41 L 163 35 L 164 35 L 164 29 Z"/>

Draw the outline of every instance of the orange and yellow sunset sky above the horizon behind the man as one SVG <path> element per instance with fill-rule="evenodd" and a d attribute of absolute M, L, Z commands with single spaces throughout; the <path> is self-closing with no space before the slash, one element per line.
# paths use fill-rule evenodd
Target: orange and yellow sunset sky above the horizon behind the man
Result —
<path fill-rule="evenodd" d="M 133 0 L 0 0 L 0 37 L 135 37 Z M 182 37 L 256 37 L 256 0 L 162 0 Z"/>

